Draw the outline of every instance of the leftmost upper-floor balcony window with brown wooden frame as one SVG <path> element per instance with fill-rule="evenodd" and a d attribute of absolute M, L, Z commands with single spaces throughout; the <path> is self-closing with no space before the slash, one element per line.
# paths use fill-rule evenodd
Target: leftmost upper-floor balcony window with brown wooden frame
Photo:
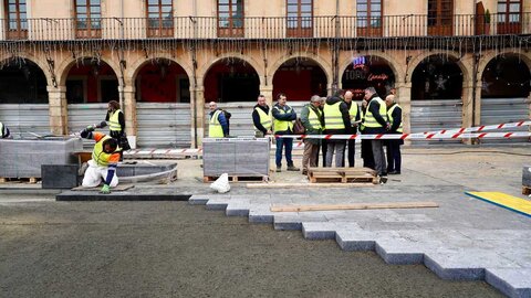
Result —
<path fill-rule="evenodd" d="M 25 0 L 3 1 L 8 39 L 25 39 L 28 36 L 28 10 Z"/>

